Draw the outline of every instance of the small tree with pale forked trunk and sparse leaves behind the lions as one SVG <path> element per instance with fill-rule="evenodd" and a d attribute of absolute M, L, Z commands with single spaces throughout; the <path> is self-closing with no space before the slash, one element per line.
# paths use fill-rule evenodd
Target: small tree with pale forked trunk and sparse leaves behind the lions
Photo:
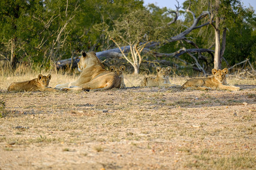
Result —
<path fill-rule="evenodd" d="M 118 46 L 123 57 L 134 67 L 134 74 L 139 74 L 142 63 L 142 50 L 146 45 L 159 40 L 160 27 L 154 23 L 152 15 L 146 10 L 133 10 L 114 20 L 113 30 L 107 31 L 109 38 Z M 128 45 L 131 56 L 126 56 L 122 45 Z"/>

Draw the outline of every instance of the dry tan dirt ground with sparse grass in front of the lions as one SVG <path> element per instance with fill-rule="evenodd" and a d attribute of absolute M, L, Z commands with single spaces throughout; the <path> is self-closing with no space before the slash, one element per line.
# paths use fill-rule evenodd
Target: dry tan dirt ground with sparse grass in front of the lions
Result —
<path fill-rule="evenodd" d="M 255 80 L 233 92 L 7 92 L 10 83 L 0 86 L 0 169 L 256 168 Z"/>

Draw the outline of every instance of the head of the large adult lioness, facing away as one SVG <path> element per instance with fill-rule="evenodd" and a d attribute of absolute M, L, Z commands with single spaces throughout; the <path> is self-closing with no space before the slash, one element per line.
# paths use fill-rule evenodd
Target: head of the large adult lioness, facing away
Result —
<path fill-rule="evenodd" d="M 82 51 L 82 56 L 80 58 L 80 61 L 77 63 L 77 65 L 80 70 L 83 70 L 86 67 L 93 66 L 93 65 L 100 65 L 104 67 L 100 59 L 98 59 L 98 57 L 96 56 L 95 52 L 85 53 L 84 51 Z"/>

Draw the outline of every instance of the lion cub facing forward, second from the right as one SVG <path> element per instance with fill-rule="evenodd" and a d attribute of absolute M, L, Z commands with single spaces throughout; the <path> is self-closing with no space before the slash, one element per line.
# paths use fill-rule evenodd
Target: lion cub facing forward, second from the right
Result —
<path fill-rule="evenodd" d="M 156 78 L 148 77 L 144 78 L 141 82 L 141 86 L 166 86 L 170 85 L 169 74 L 171 67 L 161 68 L 156 67 Z"/>

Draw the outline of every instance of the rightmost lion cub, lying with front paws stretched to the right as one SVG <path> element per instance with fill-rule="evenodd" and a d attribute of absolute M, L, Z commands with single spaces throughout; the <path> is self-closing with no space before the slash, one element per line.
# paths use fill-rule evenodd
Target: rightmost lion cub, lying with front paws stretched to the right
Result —
<path fill-rule="evenodd" d="M 193 87 L 197 90 L 230 90 L 230 91 L 238 91 L 240 87 L 236 86 L 226 86 L 226 74 L 228 74 L 228 69 L 225 68 L 223 70 L 212 69 L 212 77 L 209 78 L 192 78 L 187 80 L 182 86 L 181 89 L 185 89 L 187 87 Z"/>

